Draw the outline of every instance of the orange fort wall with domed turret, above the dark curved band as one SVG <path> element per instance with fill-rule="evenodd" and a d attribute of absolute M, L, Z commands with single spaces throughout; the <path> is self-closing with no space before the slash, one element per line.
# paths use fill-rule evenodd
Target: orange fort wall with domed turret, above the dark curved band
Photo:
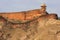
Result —
<path fill-rule="evenodd" d="M 9 20 L 32 20 L 39 16 L 48 16 L 51 18 L 58 17 L 57 14 L 49 14 L 46 11 L 46 4 L 42 4 L 40 9 L 22 11 L 22 12 L 10 12 L 10 13 L 0 13 L 0 16 L 8 18 Z M 54 16 L 56 15 L 56 16 Z"/>

